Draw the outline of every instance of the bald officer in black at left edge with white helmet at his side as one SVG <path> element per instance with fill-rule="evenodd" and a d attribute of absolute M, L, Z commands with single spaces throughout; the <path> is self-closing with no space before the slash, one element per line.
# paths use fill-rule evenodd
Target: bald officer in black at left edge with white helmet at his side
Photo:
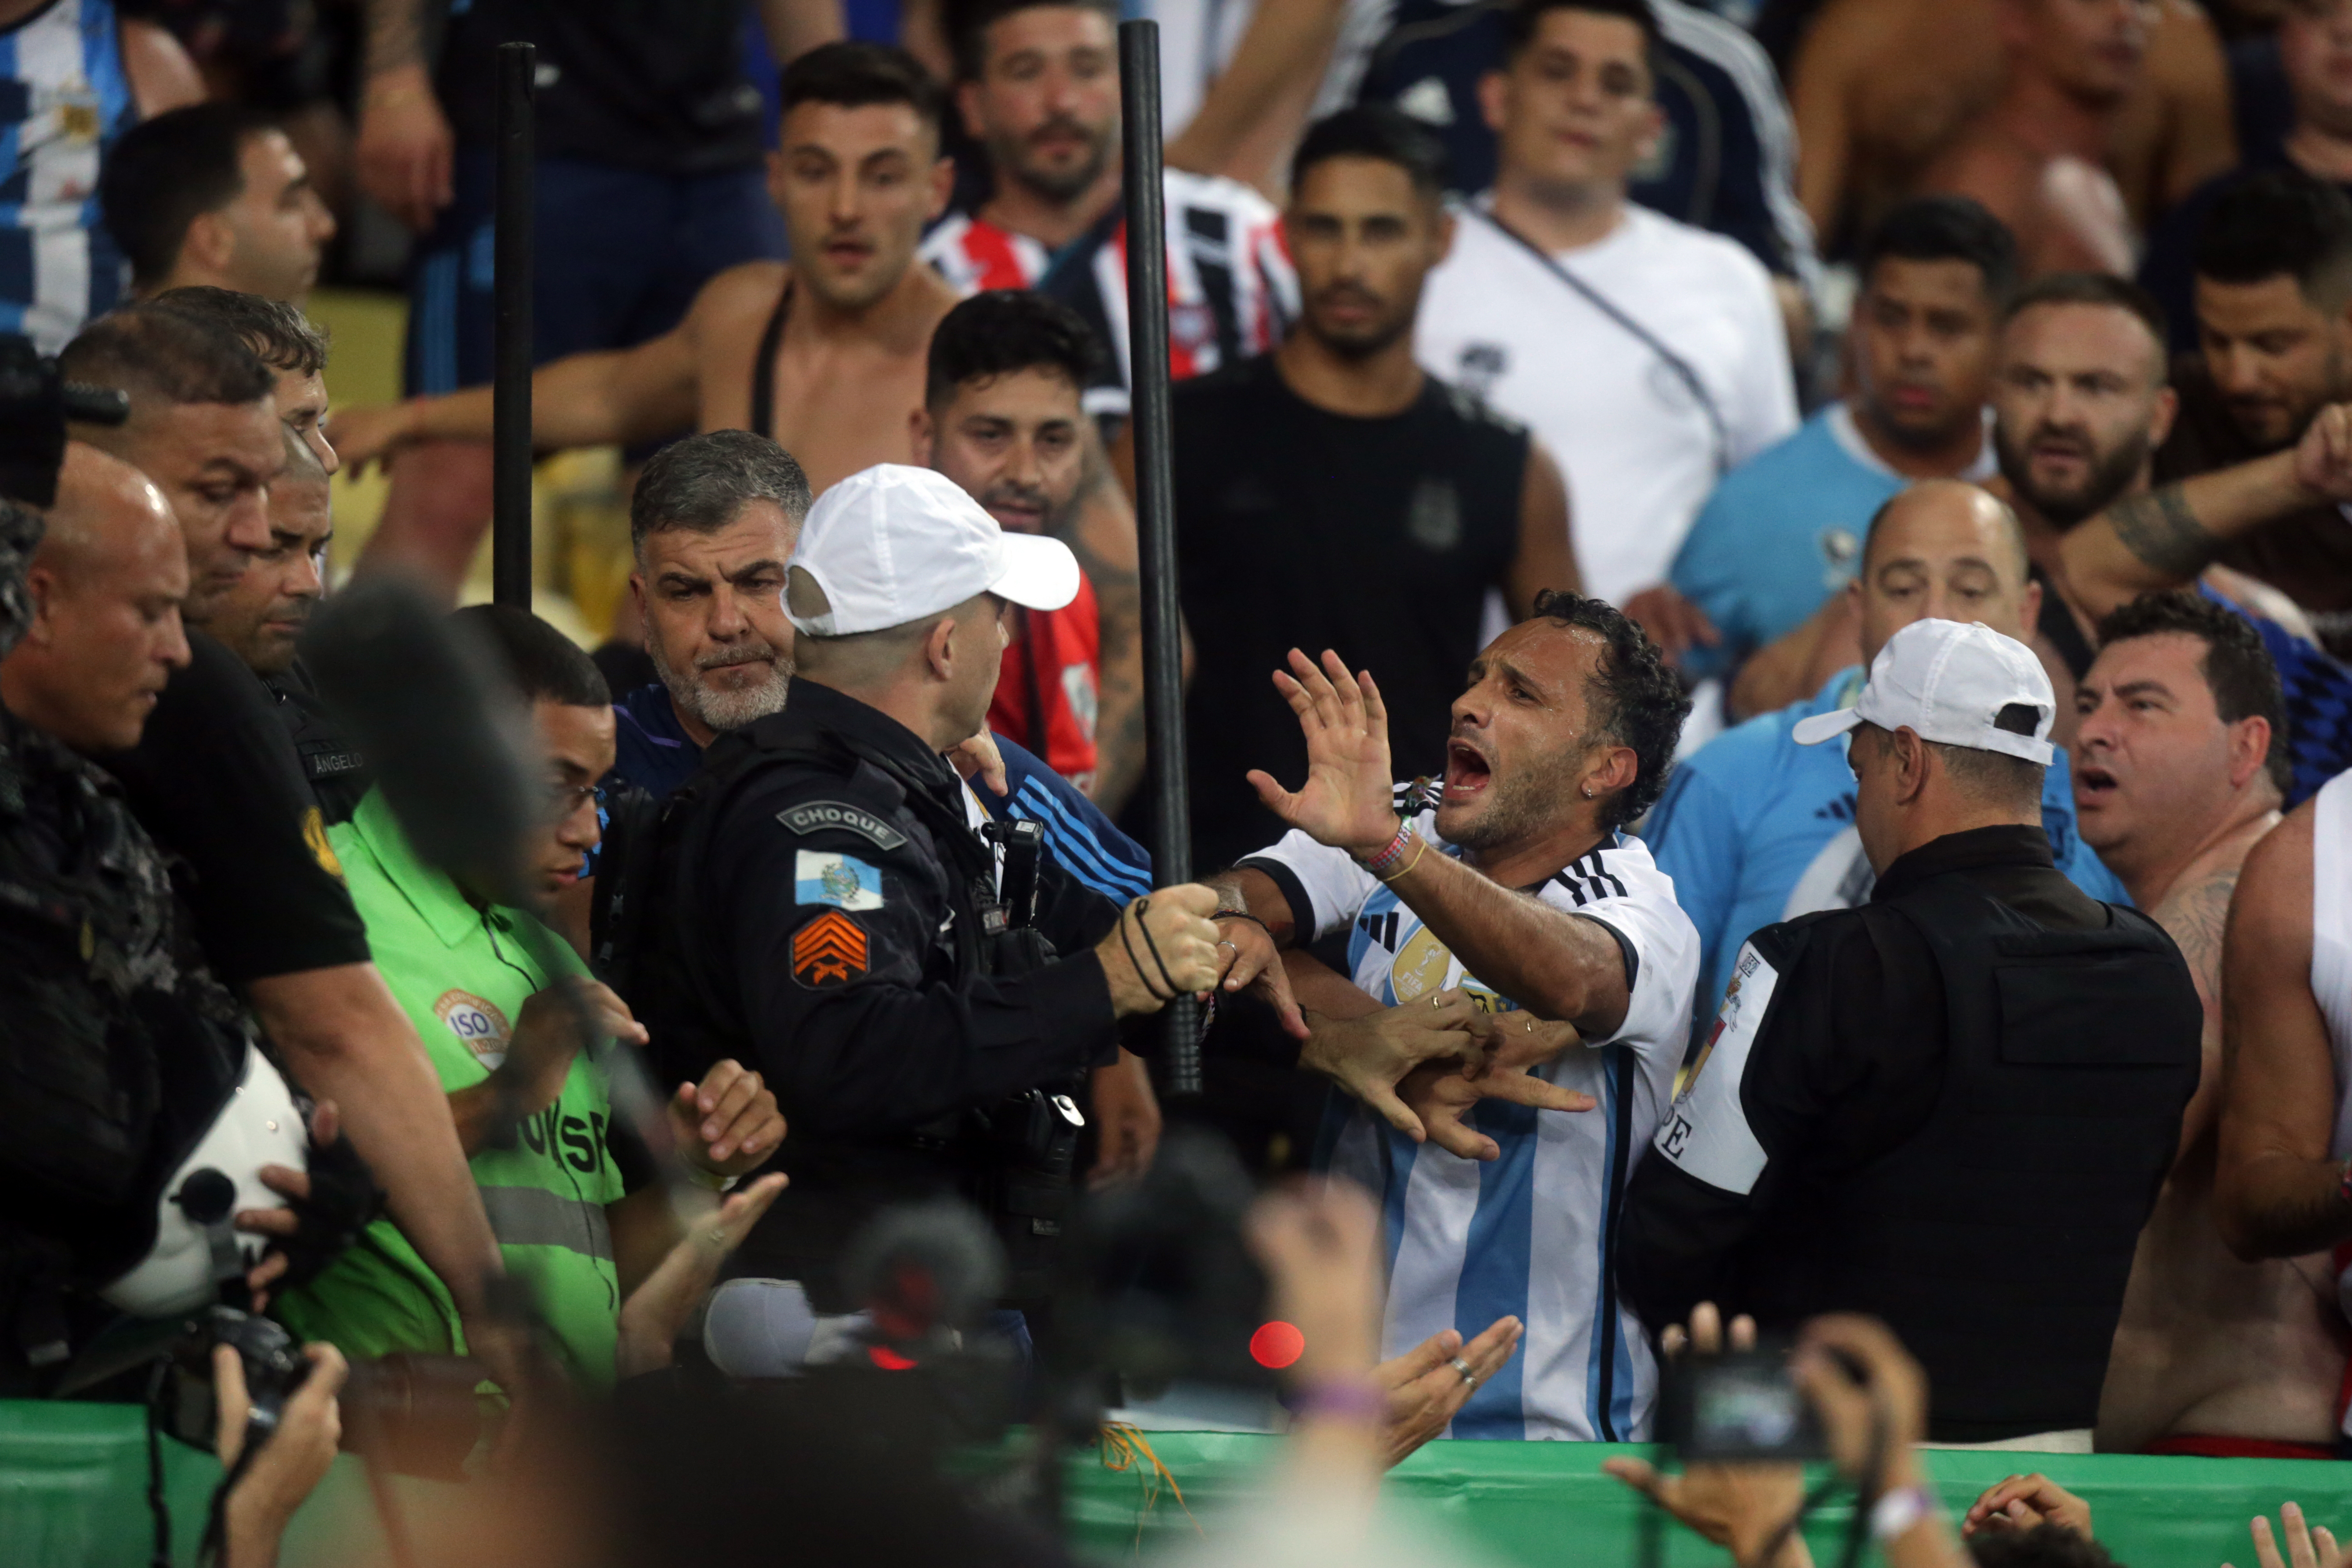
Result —
<path fill-rule="evenodd" d="M 0 501 L 0 1387 L 12 1392 L 103 1321 L 101 1295 L 167 1314 L 223 1300 L 240 1272 L 275 1291 L 289 1262 L 315 1272 L 374 1213 L 358 1161 L 306 1150 L 285 1081 L 195 950 L 165 856 L 87 762 L 136 743 L 155 691 L 188 663 L 186 590 L 172 512 L 118 458 L 66 447 L 47 531 Z M 292 1211 L 238 1215 L 285 1201 L 259 1180 L 263 1161 L 296 1173 L 278 1185 Z M 235 1204 L 200 1213 L 198 1168 L 226 1175 Z"/>

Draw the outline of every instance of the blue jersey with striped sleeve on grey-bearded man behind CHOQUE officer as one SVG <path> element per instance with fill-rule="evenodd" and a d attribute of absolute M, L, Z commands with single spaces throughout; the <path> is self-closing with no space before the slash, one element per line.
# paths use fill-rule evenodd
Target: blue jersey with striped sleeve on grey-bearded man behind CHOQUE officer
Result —
<path fill-rule="evenodd" d="M 604 776 L 607 790 L 637 785 L 647 795 L 663 797 L 703 766 L 703 748 L 677 722 L 668 686 L 640 686 L 614 703 L 612 712 L 616 745 L 612 773 Z M 1004 752 L 1007 792 L 997 795 L 988 785 L 971 790 L 988 816 L 1040 823 L 1044 853 L 1103 898 L 1127 903 L 1152 891 L 1152 858 L 1141 844 L 1112 827 L 1110 818 L 1042 757 L 1004 736 L 997 736 L 997 750 Z"/>

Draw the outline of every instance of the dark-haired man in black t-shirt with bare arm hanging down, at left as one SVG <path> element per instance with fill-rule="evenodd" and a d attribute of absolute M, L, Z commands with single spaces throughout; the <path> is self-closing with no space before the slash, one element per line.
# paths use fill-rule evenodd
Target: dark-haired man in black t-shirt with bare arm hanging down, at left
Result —
<path fill-rule="evenodd" d="M 252 1006 L 292 1077 L 341 1107 L 390 1213 L 468 1321 L 482 1316 L 496 1241 L 423 1046 L 367 952 L 334 849 L 270 696 L 205 621 L 270 543 L 268 484 L 287 435 L 273 376 L 219 322 L 158 306 L 99 317 L 64 374 L 129 397 L 120 428 L 75 425 L 162 489 L 188 548 L 188 663 L 134 750 L 106 759 L 141 827 L 188 872 L 183 896 L 212 971 Z"/>

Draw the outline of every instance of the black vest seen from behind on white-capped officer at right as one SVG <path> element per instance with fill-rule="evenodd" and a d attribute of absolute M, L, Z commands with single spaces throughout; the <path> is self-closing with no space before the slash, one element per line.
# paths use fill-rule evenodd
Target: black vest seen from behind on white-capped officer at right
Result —
<path fill-rule="evenodd" d="M 1769 1265 L 1757 1305 L 1884 1319 L 1929 1368 L 1945 1441 L 2093 1425 L 2197 1091 L 2187 964 L 2152 919 L 2107 907 L 2105 931 L 2051 931 L 1959 875 L 1872 905 L 1936 954 L 1943 1086 L 1910 1140 L 1790 1215 L 1809 1267 Z"/>

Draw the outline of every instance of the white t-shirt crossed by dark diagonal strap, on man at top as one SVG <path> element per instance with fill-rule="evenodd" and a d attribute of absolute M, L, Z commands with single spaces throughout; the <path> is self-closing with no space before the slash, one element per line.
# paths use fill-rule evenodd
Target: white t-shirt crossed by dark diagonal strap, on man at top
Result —
<path fill-rule="evenodd" d="M 1585 592 L 1611 604 L 1663 583 L 1715 482 L 1797 428 L 1764 263 L 1646 207 L 1550 259 L 1463 207 L 1416 350 L 1559 458 Z"/>

